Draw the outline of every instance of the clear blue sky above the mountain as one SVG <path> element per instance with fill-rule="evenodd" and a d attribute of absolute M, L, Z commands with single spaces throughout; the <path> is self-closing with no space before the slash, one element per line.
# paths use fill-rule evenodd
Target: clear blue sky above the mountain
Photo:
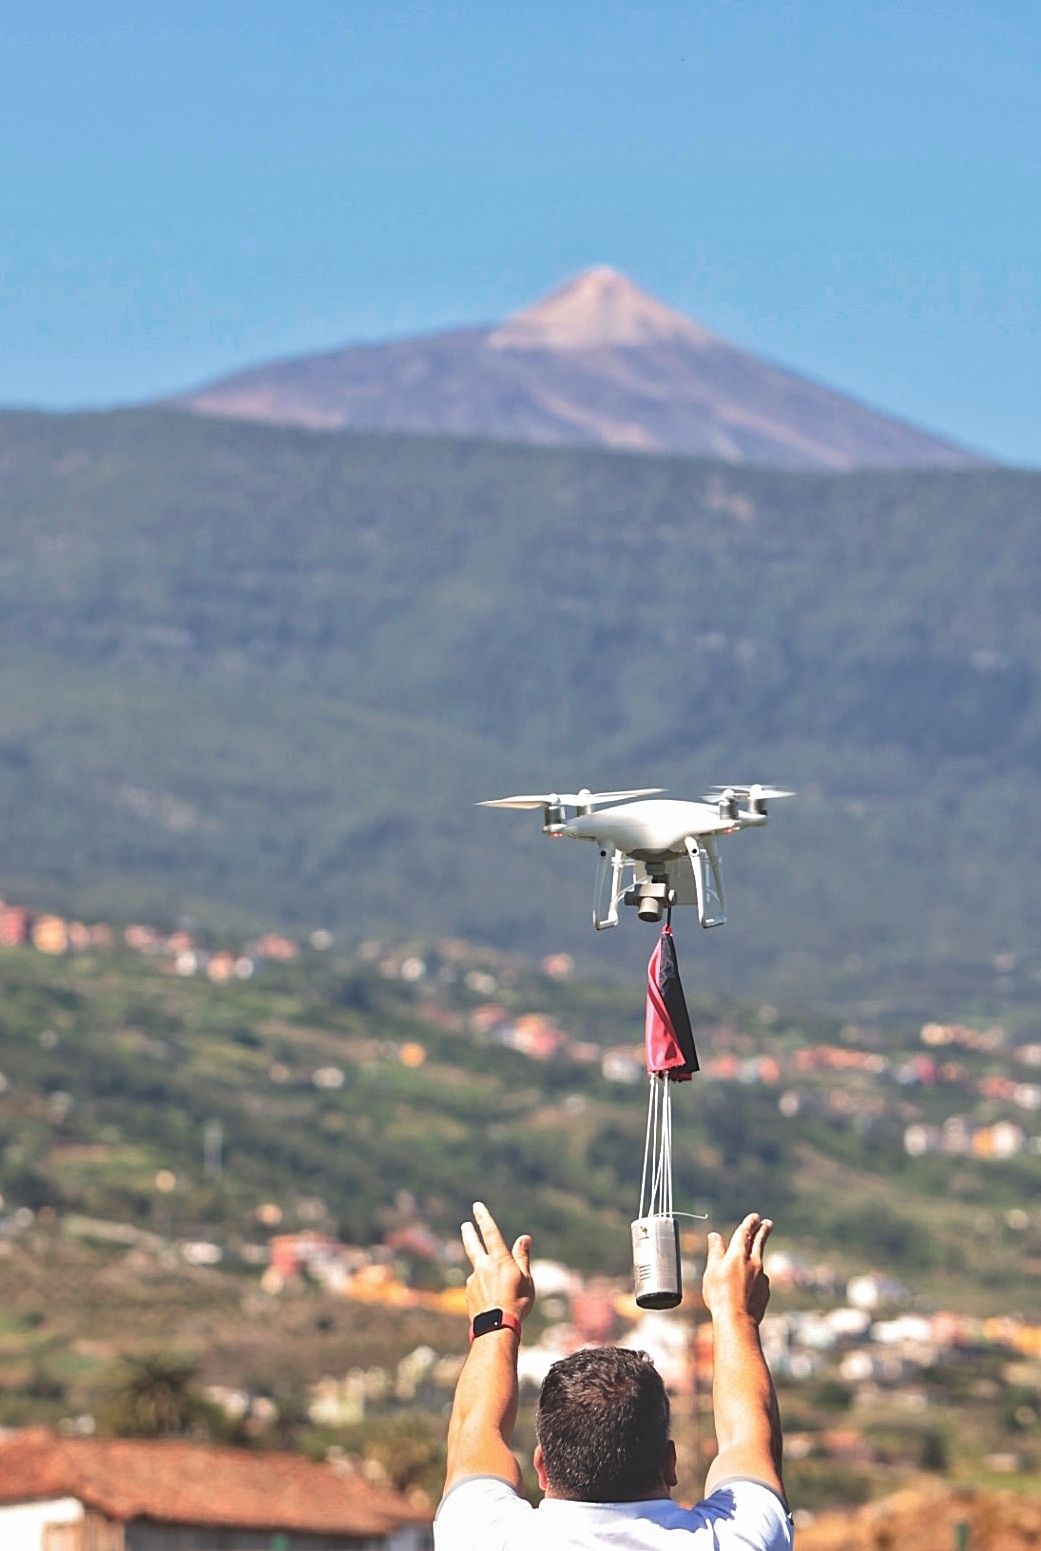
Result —
<path fill-rule="evenodd" d="M 487 321 L 608 262 L 1041 464 L 1036 5 L 99 0 L 0 40 L 0 403 Z"/>

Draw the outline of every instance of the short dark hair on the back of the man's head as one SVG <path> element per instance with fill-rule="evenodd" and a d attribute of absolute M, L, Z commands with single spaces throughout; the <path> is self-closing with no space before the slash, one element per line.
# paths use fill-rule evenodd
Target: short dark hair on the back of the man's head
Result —
<path fill-rule="evenodd" d="M 555 1362 L 538 1396 L 535 1436 L 557 1497 L 635 1503 L 661 1491 L 669 1396 L 647 1352 L 597 1346 Z"/>

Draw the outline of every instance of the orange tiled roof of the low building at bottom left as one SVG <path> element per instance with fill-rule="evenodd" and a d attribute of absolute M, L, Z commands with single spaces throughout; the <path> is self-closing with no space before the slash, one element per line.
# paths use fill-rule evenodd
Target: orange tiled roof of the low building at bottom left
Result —
<path fill-rule="evenodd" d="M 109 1518 L 383 1535 L 425 1520 L 349 1467 L 299 1455 L 180 1439 L 56 1438 L 28 1427 L 0 1439 L 0 1503 L 78 1497 Z"/>

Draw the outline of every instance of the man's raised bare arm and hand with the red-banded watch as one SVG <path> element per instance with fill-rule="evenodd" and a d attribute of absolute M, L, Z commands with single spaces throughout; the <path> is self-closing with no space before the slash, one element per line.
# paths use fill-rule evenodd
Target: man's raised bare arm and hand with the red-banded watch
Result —
<path fill-rule="evenodd" d="M 462 1224 L 462 1247 L 473 1267 L 467 1280 L 470 1320 L 503 1309 L 524 1320 L 535 1301 L 531 1280 L 531 1238 L 523 1233 L 507 1249 L 495 1218 L 473 1204 L 475 1222 Z M 467 1475 L 495 1475 L 520 1487 L 521 1473 L 510 1444 L 517 1425 L 517 1352 L 520 1335 L 507 1326 L 478 1335 L 470 1346 L 448 1422 L 445 1492 Z"/>

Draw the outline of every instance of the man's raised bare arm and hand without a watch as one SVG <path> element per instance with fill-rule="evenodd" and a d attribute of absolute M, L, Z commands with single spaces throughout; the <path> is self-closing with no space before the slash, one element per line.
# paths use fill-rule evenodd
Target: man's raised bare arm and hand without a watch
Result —
<path fill-rule="evenodd" d="M 712 1315 L 712 1416 L 718 1453 L 709 1467 L 706 1494 L 731 1477 L 773 1487 L 780 1478 L 780 1415 L 766 1368 L 759 1326 L 770 1301 L 763 1247 L 773 1222 L 751 1213 L 726 1245 L 709 1233 L 701 1292 Z"/>

